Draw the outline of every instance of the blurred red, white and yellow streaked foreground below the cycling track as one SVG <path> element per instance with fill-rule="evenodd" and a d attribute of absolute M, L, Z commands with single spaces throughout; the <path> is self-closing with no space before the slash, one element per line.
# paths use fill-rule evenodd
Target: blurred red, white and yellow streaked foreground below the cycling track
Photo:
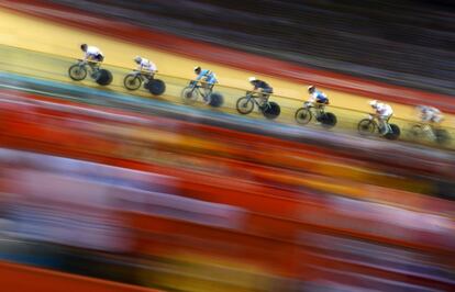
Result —
<path fill-rule="evenodd" d="M 454 284 L 455 206 L 423 195 L 442 173 L 12 93 L 1 142 L 22 150 L 0 150 L 4 259 L 165 290 Z"/>

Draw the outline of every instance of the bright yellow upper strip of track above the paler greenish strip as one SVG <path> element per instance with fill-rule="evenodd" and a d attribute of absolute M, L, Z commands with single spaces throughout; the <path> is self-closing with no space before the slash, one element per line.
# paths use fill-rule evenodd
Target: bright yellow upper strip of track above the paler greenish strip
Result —
<path fill-rule="evenodd" d="M 217 63 L 201 61 L 200 58 L 191 59 L 185 55 L 168 53 L 174 50 L 160 50 L 151 46 L 141 46 L 140 44 L 121 41 L 121 35 L 112 37 L 108 34 L 108 32 L 107 35 L 96 34 L 89 29 L 76 29 L 74 26 L 59 24 L 58 22 L 51 22 L 45 19 L 30 16 L 23 13 L 15 13 L 9 9 L 0 10 L 0 27 L 7 33 L 3 37 L 4 45 L 69 58 L 79 58 L 81 56 L 79 48 L 80 44 L 88 43 L 100 47 L 106 55 L 104 63 L 112 66 L 131 68 L 134 65 L 132 60 L 134 56 L 142 55 L 154 60 L 158 66 L 159 72 L 166 76 L 191 79 L 195 77 L 192 68 L 196 65 L 200 65 L 217 72 L 221 86 L 246 90 L 251 88 L 247 82 L 247 78 L 254 75 L 257 78 L 267 80 L 274 87 L 276 96 L 289 98 L 289 102 L 280 102 L 284 105 L 291 105 L 291 108 L 295 108 L 308 99 L 307 87 L 309 83 L 260 75 L 257 74 L 257 71 L 240 70 L 233 67 L 222 66 Z M 98 22 L 97 19 L 93 20 L 90 18 L 85 21 L 88 23 Z M 85 21 L 81 20 L 80 22 L 84 23 Z M 144 44 L 146 44 L 146 40 L 144 40 Z M 182 49 L 185 50 L 185 47 Z M 207 55 L 210 55 L 210 52 L 208 52 Z M 331 90 L 329 88 L 322 88 L 322 90 L 329 94 L 331 103 L 334 106 L 353 109 L 357 111 L 369 111 L 367 104 L 368 99 L 366 99 L 365 96 L 348 94 L 340 90 Z M 414 119 L 415 114 L 413 108 L 404 106 L 399 103 L 391 104 L 393 105 L 396 112 L 395 116 L 400 119 Z M 447 122 L 451 124 L 450 121 Z"/>

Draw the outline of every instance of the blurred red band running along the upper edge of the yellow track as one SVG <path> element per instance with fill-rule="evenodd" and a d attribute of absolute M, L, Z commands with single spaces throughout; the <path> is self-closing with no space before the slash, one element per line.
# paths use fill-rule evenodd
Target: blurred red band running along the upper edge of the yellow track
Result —
<path fill-rule="evenodd" d="M 55 1 L 0 0 L 0 5 L 13 11 L 26 13 L 27 15 L 35 15 L 85 31 L 113 36 L 118 40 L 159 48 L 164 52 L 175 53 L 192 59 L 228 65 L 242 70 L 263 72 L 267 76 L 285 78 L 286 80 L 293 80 L 298 83 L 323 85 L 331 89 L 355 94 L 365 94 L 366 97 L 375 99 L 379 94 L 381 99 L 403 104 L 417 104 L 425 101 L 425 103 L 439 106 L 445 112 L 455 112 L 455 103 L 453 102 L 455 94 L 437 94 L 354 78 L 347 75 L 296 66 L 292 63 L 247 54 L 203 42 L 195 42 L 189 38 L 177 37 L 142 26 L 131 25 L 125 22 L 102 18 L 99 14 L 90 13 L 89 10 L 80 11 L 67 5 L 57 4 Z"/>

